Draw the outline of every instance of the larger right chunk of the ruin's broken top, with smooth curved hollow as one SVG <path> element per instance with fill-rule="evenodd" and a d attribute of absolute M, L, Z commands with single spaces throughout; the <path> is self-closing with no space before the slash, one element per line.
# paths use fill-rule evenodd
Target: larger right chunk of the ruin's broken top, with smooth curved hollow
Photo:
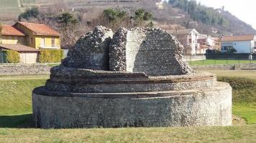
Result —
<path fill-rule="evenodd" d="M 127 34 L 126 34 L 127 32 Z M 111 65 L 113 71 L 145 72 L 148 75 L 177 75 L 189 74 L 192 69 L 183 61 L 183 46 L 174 36 L 161 29 L 134 28 L 119 30 L 114 39 L 120 39 L 120 35 L 126 36 L 124 40 L 112 41 L 115 46 L 110 49 Z M 125 44 L 126 43 L 126 44 Z M 122 58 L 116 57 L 116 53 L 125 53 Z M 126 63 L 126 64 L 124 64 Z M 126 70 L 125 70 L 126 69 Z"/>

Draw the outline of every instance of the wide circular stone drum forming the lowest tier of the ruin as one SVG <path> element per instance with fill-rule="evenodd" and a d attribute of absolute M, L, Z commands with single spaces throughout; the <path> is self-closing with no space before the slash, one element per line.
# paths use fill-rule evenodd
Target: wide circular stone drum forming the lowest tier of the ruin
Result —
<path fill-rule="evenodd" d="M 232 88 L 76 94 L 33 91 L 33 116 L 42 128 L 184 127 L 232 125 Z"/>

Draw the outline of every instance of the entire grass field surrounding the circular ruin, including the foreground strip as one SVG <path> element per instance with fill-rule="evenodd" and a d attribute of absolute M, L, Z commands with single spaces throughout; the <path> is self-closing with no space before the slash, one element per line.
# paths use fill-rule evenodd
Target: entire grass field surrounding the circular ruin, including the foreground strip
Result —
<path fill-rule="evenodd" d="M 0 142 L 256 142 L 256 71 L 211 71 L 233 87 L 233 114 L 247 125 L 33 129 L 31 92 L 49 76 L 0 77 Z"/>

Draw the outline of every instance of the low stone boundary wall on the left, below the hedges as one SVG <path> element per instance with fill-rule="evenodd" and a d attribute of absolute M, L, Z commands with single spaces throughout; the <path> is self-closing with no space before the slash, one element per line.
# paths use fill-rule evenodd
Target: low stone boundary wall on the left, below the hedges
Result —
<path fill-rule="evenodd" d="M 0 64 L 0 75 L 50 74 L 46 64 Z"/>

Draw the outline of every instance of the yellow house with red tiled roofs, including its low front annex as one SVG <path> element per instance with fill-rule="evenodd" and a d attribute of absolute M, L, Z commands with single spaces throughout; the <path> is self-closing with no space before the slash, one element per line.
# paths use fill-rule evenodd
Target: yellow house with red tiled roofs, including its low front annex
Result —
<path fill-rule="evenodd" d="M 2 25 L 1 34 L 0 51 L 18 51 L 21 63 L 36 63 L 41 49 L 60 49 L 60 34 L 44 24 L 19 21 L 14 25 Z"/>

